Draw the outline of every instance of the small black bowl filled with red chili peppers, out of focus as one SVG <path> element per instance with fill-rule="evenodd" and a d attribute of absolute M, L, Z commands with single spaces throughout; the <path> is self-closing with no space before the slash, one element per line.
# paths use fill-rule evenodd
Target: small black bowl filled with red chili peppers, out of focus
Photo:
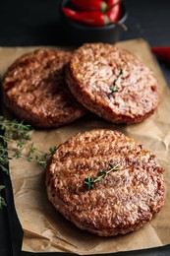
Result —
<path fill-rule="evenodd" d="M 65 38 L 72 45 L 115 43 L 127 30 L 128 12 L 122 0 L 63 0 L 61 15 Z"/>

